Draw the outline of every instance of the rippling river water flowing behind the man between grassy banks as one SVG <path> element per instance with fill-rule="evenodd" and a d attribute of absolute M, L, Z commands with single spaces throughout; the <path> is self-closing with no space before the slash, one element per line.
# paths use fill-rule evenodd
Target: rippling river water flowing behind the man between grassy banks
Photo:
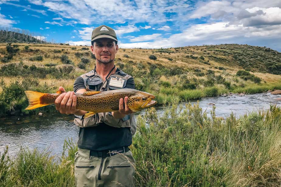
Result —
<path fill-rule="evenodd" d="M 207 97 L 200 99 L 199 105 L 208 114 L 212 110 L 212 104 L 215 104 L 217 116 L 227 117 L 233 112 L 239 117 L 253 110 L 266 110 L 270 104 L 281 106 L 281 101 L 274 100 L 277 97 L 280 95 L 270 93 Z M 157 107 L 157 112 L 159 115 L 163 114 L 163 107 Z M 137 115 L 142 114 L 144 111 L 137 113 Z M 15 155 L 20 146 L 39 150 L 49 149 L 52 154 L 60 155 L 66 138 L 72 138 L 73 141 L 78 139 L 79 127 L 72 121 L 72 115 L 63 114 L 0 118 L 0 152 L 3 152 L 8 145 L 10 155 Z"/>

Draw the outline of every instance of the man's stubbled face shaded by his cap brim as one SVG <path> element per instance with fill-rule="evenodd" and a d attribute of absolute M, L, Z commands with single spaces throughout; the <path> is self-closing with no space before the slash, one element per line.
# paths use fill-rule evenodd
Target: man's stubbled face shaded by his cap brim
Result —
<path fill-rule="evenodd" d="M 100 63 L 107 64 L 114 60 L 118 45 L 115 44 L 113 39 L 101 38 L 95 40 L 93 46 L 91 46 L 91 51 Z"/>

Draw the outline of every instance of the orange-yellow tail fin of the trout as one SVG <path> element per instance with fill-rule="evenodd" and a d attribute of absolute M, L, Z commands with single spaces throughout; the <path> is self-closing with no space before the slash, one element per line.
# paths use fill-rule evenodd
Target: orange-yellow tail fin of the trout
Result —
<path fill-rule="evenodd" d="M 42 101 L 42 97 L 44 95 L 46 95 L 45 93 L 41 93 L 41 92 L 35 92 L 35 91 L 24 91 L 27 98 L 28 98 L 28 101 L 29 101 L 29 105 L 28 107 L 26 107 L 25 110 L 32 110 L 32 109 L 35 109 L 35 108 L 39 108 L 39 107 L 43 107 L 43 106 L 47 106 L 51 103 L 43 103 L 41 102 Z"/>

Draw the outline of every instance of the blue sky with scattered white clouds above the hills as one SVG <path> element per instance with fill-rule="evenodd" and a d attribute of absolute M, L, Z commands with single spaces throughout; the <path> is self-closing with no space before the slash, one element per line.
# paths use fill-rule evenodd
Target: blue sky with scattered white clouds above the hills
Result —
<path fill-rule="evenodd" d="M 280 0 L 0 0 L 0 27 L 50 42 L 90 45 L 103 24 L 121 48 L 238 43 L 281 51 Z"/>

